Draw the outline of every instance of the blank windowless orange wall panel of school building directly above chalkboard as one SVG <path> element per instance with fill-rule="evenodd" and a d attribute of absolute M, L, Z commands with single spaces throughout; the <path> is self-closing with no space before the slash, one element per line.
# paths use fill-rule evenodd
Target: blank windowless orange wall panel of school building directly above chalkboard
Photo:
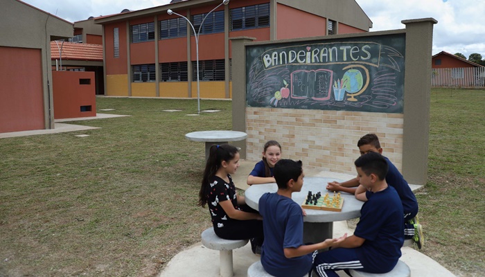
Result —
<path fill-rule="evenodd" d="M 312 15 L 282 4 L 276 7 L 277 39 L 316 37 L 326 34 L 326 18 Z M 305 20 L 299 20 L 304 18 Z"/>

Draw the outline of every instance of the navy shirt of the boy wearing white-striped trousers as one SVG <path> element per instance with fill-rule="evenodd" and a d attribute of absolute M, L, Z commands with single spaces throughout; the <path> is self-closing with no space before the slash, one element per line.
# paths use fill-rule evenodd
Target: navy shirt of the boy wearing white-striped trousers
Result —
<path fill-rule="evenodd" d="M 403 205 L 391 186 L 377 193 L 367 190 L 366 197 L 354 232 L 365 242 L 355 251 L 366 271 L 390 271 L 401 256 L 404 242 Z"/>

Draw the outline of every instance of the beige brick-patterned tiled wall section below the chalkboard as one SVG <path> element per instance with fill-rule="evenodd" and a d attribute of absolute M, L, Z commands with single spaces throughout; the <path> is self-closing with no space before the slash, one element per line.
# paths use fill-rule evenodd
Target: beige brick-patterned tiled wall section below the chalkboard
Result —
<path fill-rule="evenodd" d="M 377 134 L 382 154 L 401 170 L 403 114 L 246 107 L 247 156 L 258 161 L 266 141 L 281 144 L 282 157 L 303 167 L 355 174 L 357 142 Z"/>

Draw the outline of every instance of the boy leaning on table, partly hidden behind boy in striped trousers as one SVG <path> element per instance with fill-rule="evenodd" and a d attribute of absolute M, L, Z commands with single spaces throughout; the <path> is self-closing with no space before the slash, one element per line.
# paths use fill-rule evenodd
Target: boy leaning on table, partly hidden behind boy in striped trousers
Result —
<path fill-rule="evenodd" d="M 360 155 L 367 154 L 369 152 L 376 152 L 382 154 L 382 148 L 380 147 L 379 139 L 376 134 L 366 134 L 362 136 L 357 143 L 357 146 L 360 150 Z M 424 238 L 423 238 L 423 229 L 421 224 L 419 224 L 416 215 L 418 214 L 418 201 L 414 196 L 411 188 L 407 184 L 407 181 L 404 179 L 403 175 L 400 174 L 399 170 L 394 166 L 389 159 L 385 157 L 387 164 L 389 165 L 389 170 L 386 175 L 386 182 L 389 186 L 393 186 L 396 191 L 398 192 L 399 198 L 403 203 L 403 211 L 404 211 L 404 222 L 405 222 L 405 229 L 404 235 L 405 239 L 413 239 L 416 242 L 418 249 L 421 249 L 424 245 Z M 349 181 L 344 181 L 343 183 L 338 183 L 337 181 L 333 181 L 328 183 L 326 186 L 327 190 L 331 191 L 343 191 L 345 193 L 355 194 L 356 187 L 359 186 L 358 179 L 354 178 Z M 361 191 L 362 193 L 362 191 Z M 355 194 L 357 199 L 365 201 L 365 197 L 360 195 L 358 197 Z"/>

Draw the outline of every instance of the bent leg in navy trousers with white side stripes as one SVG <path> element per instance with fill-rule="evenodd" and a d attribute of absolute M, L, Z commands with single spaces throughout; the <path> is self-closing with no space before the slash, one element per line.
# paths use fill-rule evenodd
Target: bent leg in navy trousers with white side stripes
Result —
<path fill-rule="evenodd" d="M 315 257 L 313 270 L 320 277 L 338 277 L 337 270 L 363 269 L 355 249 L 337 248 L 321 252 Z"/>

